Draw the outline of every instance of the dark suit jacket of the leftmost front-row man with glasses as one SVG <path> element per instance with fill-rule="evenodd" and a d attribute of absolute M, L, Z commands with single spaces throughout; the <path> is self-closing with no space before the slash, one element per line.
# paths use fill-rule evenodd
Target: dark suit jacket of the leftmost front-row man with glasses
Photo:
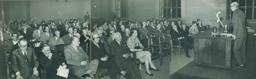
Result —
<path fill-rule="evenodd" d="M 24 55 L 22 54 L 20 49 L 16 49 L 11 53 L 11 63 L 12 63 L 12 70 L 17 73 L 20 71 L 20 75 L 32 75 L 33 68 L 36 67 L 38 69 L 38 61 L 36 57 L 36 53 L 33 48 L 27 48 L 27 56 L 28 61 L 27 63 Z"/>

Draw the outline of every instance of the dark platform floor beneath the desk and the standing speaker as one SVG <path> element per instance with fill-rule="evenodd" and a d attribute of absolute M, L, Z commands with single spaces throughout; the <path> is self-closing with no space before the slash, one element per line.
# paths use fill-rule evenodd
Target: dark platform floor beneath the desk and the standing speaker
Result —
<path fill-rule="evenodd" d="M 247 61 L 246 67 L 244 68 L 235 67 L 236 58 L 233 54 L 230 72 L 196 68 L 194 67 L 194 62 L 192 61 L 175 73 L 211 79 L 256 79 L 256 47 L 246 47 L 246 51 Z"/>

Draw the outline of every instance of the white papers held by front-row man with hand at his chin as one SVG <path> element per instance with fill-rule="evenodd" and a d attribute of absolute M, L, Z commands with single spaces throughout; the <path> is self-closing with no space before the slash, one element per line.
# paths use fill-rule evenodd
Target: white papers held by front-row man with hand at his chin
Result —
<path fill-rule="evenodd" d="M 60 65 L 60 67 L 57 69 L 57 74 L 56 75 L 59 75 L 59 76 L 62 76 L 62 77 L 65 77 L 65 78 L 68 78 L 68 72 L 69 72 L 69 69 L 67 68 L 64 68 Z"/>

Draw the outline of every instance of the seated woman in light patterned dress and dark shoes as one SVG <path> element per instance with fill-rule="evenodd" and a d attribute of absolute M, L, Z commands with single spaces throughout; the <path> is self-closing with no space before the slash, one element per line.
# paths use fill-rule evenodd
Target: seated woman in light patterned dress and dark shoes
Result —
<path fill-rule="evenodd" d="M 151 53 L 149 51 L 143 51 L 143 46 L 139 41 L 139 38 L 137 37 L 138 33 L 137 30 L 132 30 L 131 31 L 131 35 L 127 40 L 127 46 L 130 48 L 131 51 L 135 51 L 136 52 L 136 58 L 140 59 L 140 62 L 145 62 L 146 65 L 146 73 L 150 76 L 154 76 L 148 68 L 148 63 L 150 64 L 150 69 L 154 70 L 154 71 L 159 71 L 158 68 L 156 68 L 152 61 L 151 61 Z M 134 49 L 135 44 L 139 43 L 139 46 L 141 49 Z M 133 55 L 131 55 L 131 57 L 133 57 Z"/>

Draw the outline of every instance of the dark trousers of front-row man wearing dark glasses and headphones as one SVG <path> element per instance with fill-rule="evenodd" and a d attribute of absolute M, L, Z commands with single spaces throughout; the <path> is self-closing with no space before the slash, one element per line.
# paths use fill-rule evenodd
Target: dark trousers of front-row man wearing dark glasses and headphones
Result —
<path fill-rule="evenodd" d="M 122 71 L 117 64 L 112 60 L 102 61 L 99 62 L 100 69 L 108 69 L 108 74 L 110 79 L 116 79 L 116 74 L 120 74 Z"/>

